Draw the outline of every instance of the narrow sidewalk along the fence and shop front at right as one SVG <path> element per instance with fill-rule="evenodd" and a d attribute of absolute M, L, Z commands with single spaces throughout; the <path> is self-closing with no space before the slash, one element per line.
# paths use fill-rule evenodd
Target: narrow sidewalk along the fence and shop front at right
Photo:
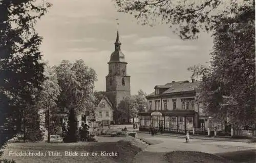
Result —
<path fill-rule="evenodd" d="M 137 131 L 137 132 L 149 134 L 146 131 Z M 163 133 L 163 134 L 157 133 L 157 135 L 185 138 L 185 135 L 176 134 L 176 133 Z M 205 140 L 212 140 L 212 141 L 230 141 L 230 142 L 242 142 L 242 143 L 255 143 L 256 144 L 255 138 L 253 141 L 253 139 L 249 139 L 249 138 L 238 139 L 238 138 L 229 138 L 229 137 L 207 137 L 204 135 L 189 135 L 189 137 L 191 139 L 205 139 Z"/>

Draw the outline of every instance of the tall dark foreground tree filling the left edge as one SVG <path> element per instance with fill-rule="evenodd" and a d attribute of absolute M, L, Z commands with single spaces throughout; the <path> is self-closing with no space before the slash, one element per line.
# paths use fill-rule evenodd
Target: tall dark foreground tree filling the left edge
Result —
<path fill-rule="evenodd" d="M 50 6 L 45 1 L 0 1 L 0 119 L 12 120 L 10 123 L 17 125 L 17 129 L 18 115 L 34 105 L 39 84 L 45 80 L 39 51 L 42 38 L 34 24 Z M 0 126 L 6 121 L 1 121 Z M 5 142 L 1 138 L 0 147 Z"/>

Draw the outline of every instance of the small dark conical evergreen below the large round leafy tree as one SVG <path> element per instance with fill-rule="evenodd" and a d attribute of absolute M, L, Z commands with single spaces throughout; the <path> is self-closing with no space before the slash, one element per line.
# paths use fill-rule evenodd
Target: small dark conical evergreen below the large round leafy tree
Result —
<path fill-rule="evenodd" d="M 70 109 L 68 120 L 68 132 L 64 141 L 66 143 L 74 143 L 78 141 L 78 122 L 76 118 L 76 111 L 74 108 Z"/>

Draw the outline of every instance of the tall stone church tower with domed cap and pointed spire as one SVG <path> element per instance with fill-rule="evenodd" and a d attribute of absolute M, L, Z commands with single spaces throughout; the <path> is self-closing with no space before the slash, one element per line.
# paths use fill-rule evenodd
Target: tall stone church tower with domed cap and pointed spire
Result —
<path fill-rule="evenodd" d="M 117 24 L 117 35 L 115 51 L 111 54 L 109 64 L 109 74 L 106 76 L 105 95 L 112 102 L 114 111 L 119 103 L 126 97 L 131 96 L 130 76 L 126 74 L 126 65 L 124 54 L 121 52 L 121 42 L 119 41 Z"/>

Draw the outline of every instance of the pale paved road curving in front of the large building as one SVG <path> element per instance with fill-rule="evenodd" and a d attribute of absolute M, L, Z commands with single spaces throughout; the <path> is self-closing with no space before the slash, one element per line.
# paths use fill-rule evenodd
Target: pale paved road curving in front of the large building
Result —
<path fill-rule="evenodd" d="M 202 139 L 190 139 L 185 143 L 184 138 L 174 138 L 163 135 L 152 137 L 150 134 L 138 133 L 138 137 L 155 139 L 163 143 L 148 146 L 144 151 L 148 152 L 171 152 L 176 150 L 200 151 L 206 153 L 222 153 L 242 150 L 256 150 L 256 145 L 252 143 L 212 141 Z"/>

